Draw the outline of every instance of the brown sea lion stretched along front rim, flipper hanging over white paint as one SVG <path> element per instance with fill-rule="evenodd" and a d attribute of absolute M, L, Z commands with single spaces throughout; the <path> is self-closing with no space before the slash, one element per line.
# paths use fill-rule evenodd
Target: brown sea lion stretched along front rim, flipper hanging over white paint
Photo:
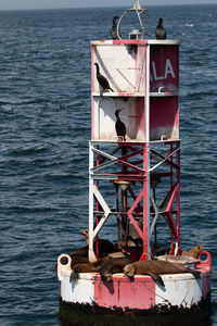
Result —
<path fill-rule="evenodd" d="M 124 267 L 124 274 L 133 278 L 135 275 L 149 275 L 155 283 L 164 286 L 159 274 L 191 273 L 195 278 L 200 277 L 200 272 L 184 267 L 183 265 L 165 261 L 138 261 Z"/>

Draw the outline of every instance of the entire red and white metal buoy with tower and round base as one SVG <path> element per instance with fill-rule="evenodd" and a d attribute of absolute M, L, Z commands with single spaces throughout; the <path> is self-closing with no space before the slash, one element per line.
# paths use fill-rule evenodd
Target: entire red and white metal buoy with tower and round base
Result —
<path fill-rule="evenodd" d="M 136 1 L 120 17 L 118 28 L 131 11 L 141 24 L 140 16 L 146 11 Z M 114 91 L 102 92 L 94 63 Z M 127 130 L 125 141 L 115 130 L 118 109 Z M 112 192 L 115 208 L 110 203 Z M 75 317 L 78 311 L 118 315 L 190 311 L 208 302 L 209 253 L 203 251 L 196 260 L 180 259 L 179 41 L 148 40 L 143 27 L 141 33 L 133 29 L 129 39 L 91 41 L 90 262 L 98 260 L 93 242 L 105 222 L 114 217 L 114 242 L 124 252 L 151 260 L 158 234 L 161 240 L 164 235 L 170 252 L 161 259 L 184 263 L 199 271 L 201 278 L 166 274 L 162 275 L 165 287 L 145 275 L 136 275 L 133 281 L 124 274 L 114 274 L 112 281 L 103 281 L 99 273 L 72 278 L 71 256 L 62 254 L 58 259 L 62 315 L 64 304 Z"/>

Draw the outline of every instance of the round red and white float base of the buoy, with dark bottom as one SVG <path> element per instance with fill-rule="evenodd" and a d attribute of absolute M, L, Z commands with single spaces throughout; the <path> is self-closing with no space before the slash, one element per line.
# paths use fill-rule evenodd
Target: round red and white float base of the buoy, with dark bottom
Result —
<path fill-rule="evenodd" d="M 137 325 L 150 326 L 152 317 L 156 326 L 166 325 L 167 318 L 173 322 L 171 316 L 181 313 L 182 323 L 183 317 L 189 317 L 191 325 L 196 325 L 194 321 L 201 322 L 204 316 L 207 319 L 209 314 L 210 259 L 206 255 L 206 261 L 194 266 L 200 272 L 197 277 L 191 273 L 161 275 L 163 285 L 146 275 L 128 279 L 123 273 L 113 274 L 111 281 L 102 280 L 99 273 L 79 273 L 75 277 L 69 259 L 67 264 L 61 264 L 59 259 L 60 315 L 72 325 L 126 326 L 136 321 Z"/>

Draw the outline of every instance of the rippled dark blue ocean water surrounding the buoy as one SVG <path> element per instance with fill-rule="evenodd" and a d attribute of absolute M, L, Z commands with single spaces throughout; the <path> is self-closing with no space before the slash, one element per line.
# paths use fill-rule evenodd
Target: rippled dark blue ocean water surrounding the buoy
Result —
<path fill-rule="evenodd" d="M 181 41 L 181 243 L 212 254 L 217 325 L 217 5 L 149 10 L 150 37 L 163 16 Z M 88 224 L 90 40 L 123 11 L 0 12 L 1 326 L 63 325 L 54 266 Z"/>

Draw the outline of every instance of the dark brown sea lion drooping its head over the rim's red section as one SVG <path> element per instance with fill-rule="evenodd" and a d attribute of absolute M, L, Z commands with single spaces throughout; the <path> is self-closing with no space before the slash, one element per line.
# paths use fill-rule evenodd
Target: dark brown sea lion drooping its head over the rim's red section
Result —
<path fill-rule="evenodd" d="M 115 273 L 123 273 L 124 266 L 127 264 L 132 263 L 133 260 L 130 258 L 113 258 L 108 260 L 107 262 L 103 263 L 103 265 L 100 268 L 100 276 L 103 280 L 112 280 L 112 274 Z"/>

